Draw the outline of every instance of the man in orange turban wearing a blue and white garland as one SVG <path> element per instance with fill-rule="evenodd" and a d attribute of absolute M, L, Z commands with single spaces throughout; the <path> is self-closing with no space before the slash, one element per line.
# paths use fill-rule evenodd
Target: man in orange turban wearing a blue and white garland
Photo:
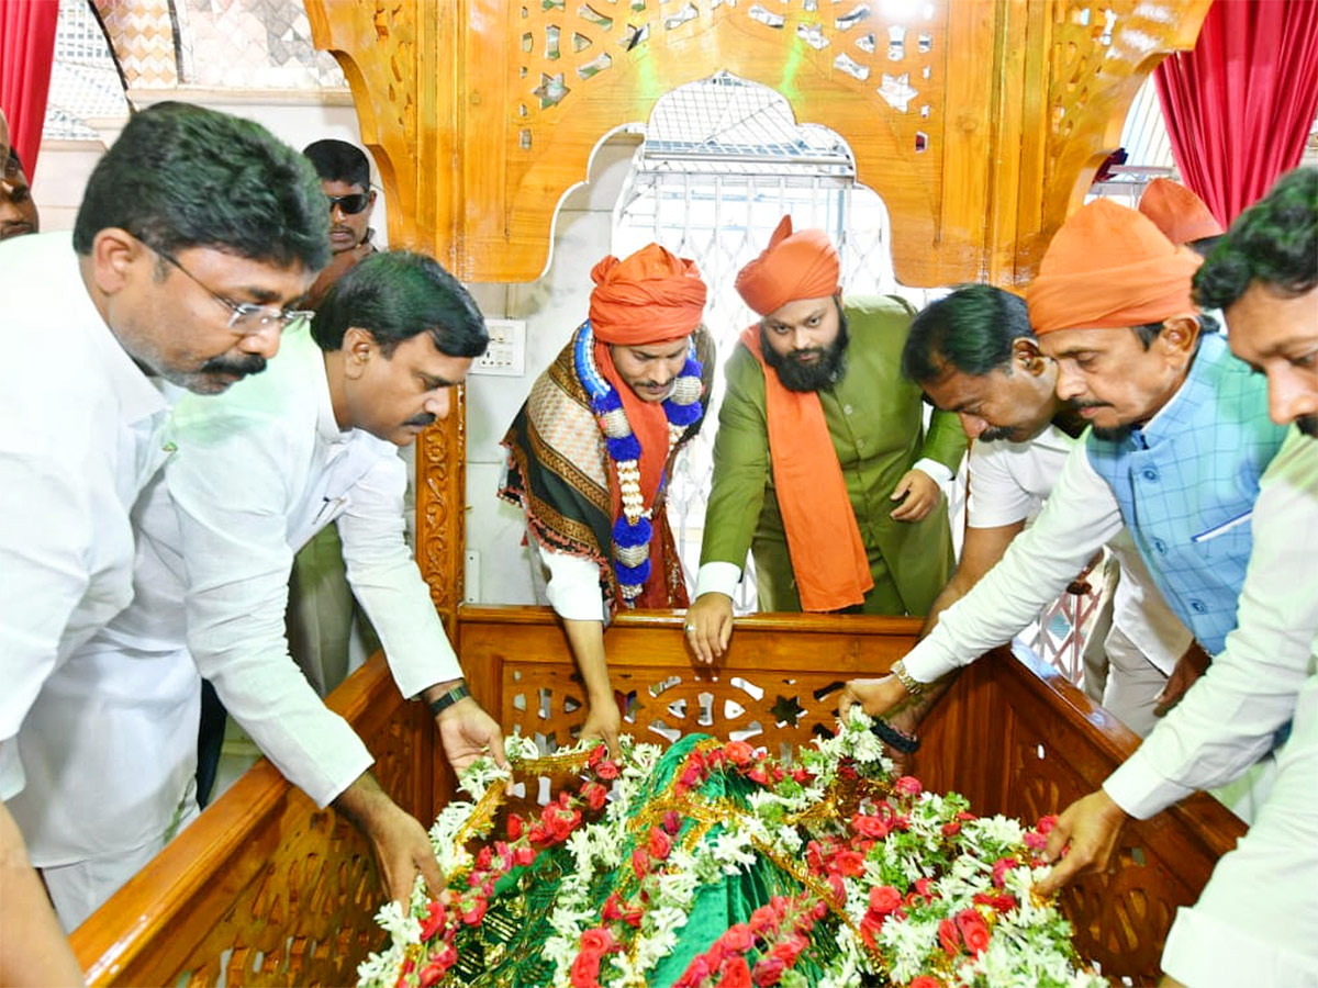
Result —
<path fill-rule="evenodd" d="M 526 512 L 585 682 L 583 736 L 616 747 L 604 627 L 619 607 L 685 607 L 664 491 L 699 432 L 713 344 L 693 261 L 650 244 L 590 271 L 589 319 L 536 378 L 503 445 L 500 497 Z"/>

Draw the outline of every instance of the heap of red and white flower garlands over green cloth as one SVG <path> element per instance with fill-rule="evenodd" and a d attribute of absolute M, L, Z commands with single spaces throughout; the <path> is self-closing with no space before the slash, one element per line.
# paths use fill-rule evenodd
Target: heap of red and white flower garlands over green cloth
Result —
<path fill-rule="evenodd" d="M 473 801 L 449 804 L 431 830 L 448 889 L 428 900 L 418 883 L 410 909 L 380 912 L 391 942 L 360 966 L 358 984 L 1106 985 L 1035 891 L 1053 819 L 979 818 L 954 793 L 894 780 L 870 726 L 854 711 L 795 764 L 700 736 L 666 754 L 623 738 L 618 760 L 596 743 L 542 756 L 514 735 L 511 769 L 465 773 Z M 564 771 L 575 788 L 497 826 L 514 780 L 534 790 L 536 776 Z M 482 925 L 510 897 L 543 893 L 547 876 L 547 931 L 532 947 L 515 929 L 522 939 L 490 967 Z M 745 916 L 714 926 L 702 904 L 747 887 L 760 894 Z M 530 980 L 517 970 L 529 952 L 544 971 Z"/>

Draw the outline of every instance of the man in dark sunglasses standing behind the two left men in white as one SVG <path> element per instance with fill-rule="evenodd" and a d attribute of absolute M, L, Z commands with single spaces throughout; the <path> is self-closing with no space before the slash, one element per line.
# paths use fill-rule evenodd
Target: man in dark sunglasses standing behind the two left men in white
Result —
<path fill-rule="evenodd" d="M 320 188 L 330 206 L 330 249 L 333 258 L 307 292 L 307 304 L 319 308 L 345 271 L 376 253 L 370 242 L 376 194 L 370 188 L 370 162 L 360 148 L 326 138 L 308 144 L 302 153 L 320 177 Z"/>

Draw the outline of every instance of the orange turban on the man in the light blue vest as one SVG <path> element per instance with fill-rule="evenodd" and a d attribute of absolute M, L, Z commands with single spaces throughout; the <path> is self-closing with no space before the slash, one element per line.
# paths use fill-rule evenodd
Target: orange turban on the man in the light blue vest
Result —
<path fill-rule="evenodd" d="M 1203 262 L 1135 209 L 1110 199 L 1082 206 L 1062 224 L 1025 290 L 1029 324 L 1107 329 L 1195 312 L 1190 278 Z"/>

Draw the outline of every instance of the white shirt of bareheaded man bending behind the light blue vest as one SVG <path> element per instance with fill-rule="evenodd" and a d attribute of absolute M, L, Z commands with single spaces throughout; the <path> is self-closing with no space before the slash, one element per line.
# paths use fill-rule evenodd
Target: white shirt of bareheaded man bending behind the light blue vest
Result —
<path fill-rule="evenodd" d="M 996 528 L 1037 514 L 1075 444 L 1056 425 L 1027 443 L 973 443 L 967 526 Z M 1170 673 L 1194 636 L 1166 606 L 1130 532 L 1122 528 L 1107 547 L 1122 569 L 1112 622 L 1157 669 Z"/>

